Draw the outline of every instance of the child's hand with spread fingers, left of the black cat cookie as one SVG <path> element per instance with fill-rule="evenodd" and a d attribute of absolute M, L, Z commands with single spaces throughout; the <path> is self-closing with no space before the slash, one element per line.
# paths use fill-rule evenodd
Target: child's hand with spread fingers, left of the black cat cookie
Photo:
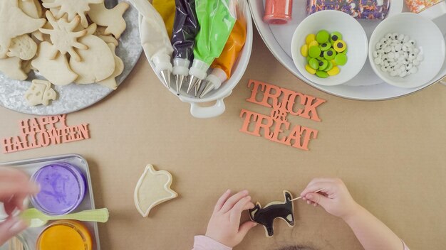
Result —
<path fill-rule="evenodd" d="M 232 196 L 231 191 L 227 190 L 214 207 L 207 224 L 206 236 L 229 247 L 237 246 L 249 229 L 256 226 L 255 222 L 245 222 L 240 225 L 242 212 L 251 208 L 254 208 L 254 204 L 247 190 Z"/>

